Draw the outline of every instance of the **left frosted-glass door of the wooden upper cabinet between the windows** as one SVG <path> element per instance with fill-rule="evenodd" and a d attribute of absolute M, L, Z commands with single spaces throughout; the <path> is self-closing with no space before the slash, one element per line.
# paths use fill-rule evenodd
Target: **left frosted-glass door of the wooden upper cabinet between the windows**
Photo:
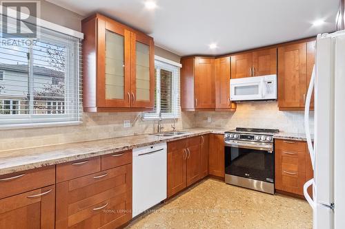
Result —
<path fill-rule="evenodd" d="M 130 31 L 103 20 L 98 30 L 98 106 L 130 107 Z"/>

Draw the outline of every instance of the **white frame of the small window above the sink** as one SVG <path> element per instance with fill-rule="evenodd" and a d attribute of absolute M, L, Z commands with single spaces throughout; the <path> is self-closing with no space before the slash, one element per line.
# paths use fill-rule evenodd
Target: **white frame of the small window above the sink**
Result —
<path fill-rule="evenodd" d="M 181 118 L 181 106 L 180 106 L 180 83 L 179 74 L 181 65 L 173 61 L 155 56 L 155 71 L 156 71 L 156 87 L 155 87 L 155 112 L 144 113 L 144 120 L 158 120 L 159 118 L 164 120 Z M 159 111 L 161 110 L 161 69 L 172 73 L 172 112 L 161 113 L 159 117 Z M 176 96 L 177 95 L 177 96 Z"/>

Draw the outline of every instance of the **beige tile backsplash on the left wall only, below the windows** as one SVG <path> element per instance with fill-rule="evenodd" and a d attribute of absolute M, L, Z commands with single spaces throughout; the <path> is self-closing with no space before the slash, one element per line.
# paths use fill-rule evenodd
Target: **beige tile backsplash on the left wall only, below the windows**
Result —
<path fill-rule="evenodd" d="M 156 131 L 157 120 L 142 120 L 141 115 L 142 113 L 135 112 L 83 113 L 83 123 L 75 126 L 0 130 L 0 151 Z M 193 127 L 193 119 L 193 113 L 182 112 L 175 125 L 177 129 Z M 130 127 L 124 127 L 125 120 L 130 121 Z M 164 120 L 163 131 L 172 130 L 172 123 L 172 120 Z"/>

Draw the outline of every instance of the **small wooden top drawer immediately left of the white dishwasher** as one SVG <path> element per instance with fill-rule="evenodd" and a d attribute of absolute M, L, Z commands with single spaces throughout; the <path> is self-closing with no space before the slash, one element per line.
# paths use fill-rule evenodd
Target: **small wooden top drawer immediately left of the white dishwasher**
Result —
<path fill-rule="evenodd" d="M 124 164 L 132 163 L 132 150 L 112 153 L 101 156 L 101 170 L 115 168 Z"/>

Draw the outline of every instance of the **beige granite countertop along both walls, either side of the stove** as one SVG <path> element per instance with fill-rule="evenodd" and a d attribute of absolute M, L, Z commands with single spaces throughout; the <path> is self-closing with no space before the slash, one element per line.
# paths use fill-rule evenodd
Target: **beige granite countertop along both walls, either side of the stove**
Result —
<path fill-rule="evenodd" d="M 0 151 L 0 175 L 26 171 L 28 169 L 39 168 L 42 166 L 71 162 L 98 155 L 116 153 L 160 142 L 170 142 L 183 138 L 190 138 L 206 133 L 224 134 L 224 132 L 228 130 L 229 129 L 219 128 L 190 128 L 179 130 L 188 131 L 190 133 L 172 137 L 141 134 L 105 140 L 92 140 L 88 142 L 57 144 L 30 149 Z M 274 138 L 306 140 L 303 135 L 284 132 L 277 133 Z"/>

